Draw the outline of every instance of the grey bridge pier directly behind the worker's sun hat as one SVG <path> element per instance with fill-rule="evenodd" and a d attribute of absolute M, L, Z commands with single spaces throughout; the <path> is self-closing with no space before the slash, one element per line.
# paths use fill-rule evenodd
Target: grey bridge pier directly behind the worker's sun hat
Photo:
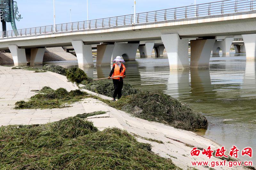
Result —
<path fill-rule="evenodd" d="M 140 43 L 115 43 L 112 59 L 122 56 L 125 61 L 135 61 Z"/>

